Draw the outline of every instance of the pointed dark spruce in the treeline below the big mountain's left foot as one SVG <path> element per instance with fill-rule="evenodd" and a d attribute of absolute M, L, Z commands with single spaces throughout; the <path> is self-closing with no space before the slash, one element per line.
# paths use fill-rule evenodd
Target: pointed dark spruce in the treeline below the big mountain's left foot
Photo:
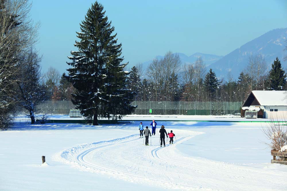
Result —
<path fill-rule="evenodd" d="M 215 72 L 210 68 L 209 72 L 205 75 L 204 87 L 208 91 L 208 97 L 214 98 L 215 92 L 219 88 L 219 80 L 216 78 Z"/>

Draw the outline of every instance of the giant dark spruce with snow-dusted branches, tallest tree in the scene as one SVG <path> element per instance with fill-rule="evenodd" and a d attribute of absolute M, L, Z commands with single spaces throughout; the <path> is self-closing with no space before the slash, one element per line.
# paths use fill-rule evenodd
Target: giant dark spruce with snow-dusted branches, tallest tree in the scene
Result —
<path fill-rule="evenodd" d="M 117 44 L 115 28 L 105 16 L 104 7 L 97 1 L 88 9 L 77 32 L 78 51 L 71 51 L 69 81 L 76 88 L 72 102 L 86 119 L 98 117 L 121 119 L 133 111 L 133 94 L 127 88 L 127 65 L 121 64 L 121 44 Z"/>

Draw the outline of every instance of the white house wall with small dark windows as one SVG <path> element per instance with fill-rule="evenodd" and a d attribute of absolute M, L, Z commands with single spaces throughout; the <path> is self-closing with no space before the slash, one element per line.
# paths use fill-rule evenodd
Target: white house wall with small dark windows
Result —
<path fill-rule="evenodd" d="M 265 116 L 263 117 L 266 119 L 287 119 L 287 106 L 260 106 L 260 108 L 264 110 Z M 270 109 L 273 109 L 273 111 L 270 111 Z M 278 111 L 275 111 L 275 109 L 278 109 Z"/>

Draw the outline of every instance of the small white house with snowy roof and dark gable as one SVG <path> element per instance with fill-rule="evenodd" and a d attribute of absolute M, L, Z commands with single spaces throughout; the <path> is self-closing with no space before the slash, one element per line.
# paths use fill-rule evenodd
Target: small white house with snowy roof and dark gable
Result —
<path fill-rule="evenodd" d="M 251 91 L 242 106 L 243 110 L 263 110 L 263 118 L 287 119 L 286 91 Z"/>

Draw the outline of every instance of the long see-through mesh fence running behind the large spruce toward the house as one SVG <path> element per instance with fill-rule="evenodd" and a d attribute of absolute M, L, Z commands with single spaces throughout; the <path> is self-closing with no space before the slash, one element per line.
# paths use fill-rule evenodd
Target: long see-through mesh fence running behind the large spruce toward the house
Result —
<path fill-rule="evenodd" d="M 240 115 L 241 102 L 134 101 L 133 114 L 138 115 Z M 69 114 L 75 109 L 71 101 L 46 101 L 37 113 Z M 151 112 L 151 113 L 150 113 Z"/>

